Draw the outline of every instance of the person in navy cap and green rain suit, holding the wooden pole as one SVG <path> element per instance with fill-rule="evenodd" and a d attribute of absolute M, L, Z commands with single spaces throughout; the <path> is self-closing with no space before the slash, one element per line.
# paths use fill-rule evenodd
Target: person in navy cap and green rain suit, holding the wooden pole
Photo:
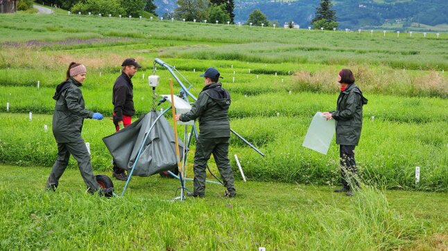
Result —
<path fill-rule="evenodd" d="M 205 169 L 207 161 L 213 154 L 218 171 L 223 177 L 227 188 L 225 196 L 236 196 L 234 176 L 229 160 L 229 106 L 230 94 L 218 82 L 220 73 L 216 68 L 208 68 L 204 74 L 205 87 L 200 92 L 198 100 L 191 107 L 191 111 L 175 115 L 175 120 L 187 122 L 199 118 L 199 136 L 196 140 L 196 154 L 194 155 L 194 190 L 192 196 L 205 196 Z"/>

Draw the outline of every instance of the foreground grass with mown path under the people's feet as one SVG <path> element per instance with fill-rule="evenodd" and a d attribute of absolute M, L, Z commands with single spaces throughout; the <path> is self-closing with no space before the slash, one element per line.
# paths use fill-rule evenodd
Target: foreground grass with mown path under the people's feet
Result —
<path fill-rule="evenodd" d="M 13 170 L 13 171 L 12 171 Z M 0 247 L 17 250 L 443 250 L 447 194 L 237 182 L 207 197 L 170 202 L 178 181 L 134 178 L 125 197 L 83 194 L 68 169 L 58 192 L 44 192 L 49 168 L 0 165 Z M 32 176 L 30 174 L 33 174 Z M 26 184 L 26 186 L 24 186 Z M 123 183 L 116 182 L 121 191 Z M 192 184 L 187 183 L 191 188 Z"/>

